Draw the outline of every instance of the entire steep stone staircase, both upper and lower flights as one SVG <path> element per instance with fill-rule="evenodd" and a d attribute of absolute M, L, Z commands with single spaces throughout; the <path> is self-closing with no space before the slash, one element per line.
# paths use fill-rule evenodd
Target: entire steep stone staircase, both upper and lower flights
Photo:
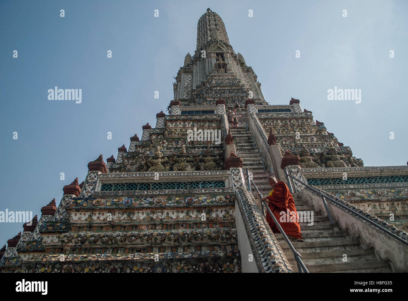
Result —
<path fill-rule="evenodd" d="M 231 128 L 231 134 L 234 137 L 237 156 L 242 158 L 245 178 L 248 168 L 253 173 L 257 188 L 266 196 L 270 188 L 267 181 L 257 178 L 260 177 L 258 173 L 266 174 L 266 171 L 259 151 L 253 145 L 251 132 L 245 127 L 237 127 Z M 267 178 L 265 175 L 262 177 Z M 259 203 L 253 186 L 252 193 Z M 374 250 L 364 246 L 359 238 L 353 238 L 347 230 L 340 229 L 337 224 L 331 224 L 328 217 L 323 217 L 320 211 L 308 206 L 297 194 L 293 195 L 293 199 L 298 212 L 310 211 L 310 215 L 313 212 L 313 225 L 308 225 L 310 223 L 307 221 L 300 223 L 304 242 L 297 242 L 297 239 L 289 237 L 309 272 L 392 272 L 388 261 L 379 259 Z M 293 271 L 297 272 L 297 264 L 288 243 L 280 233 L 275 233 L 275 237 Z M 347 255 L 347 261 L 344 261 L 344 255 Z"/>

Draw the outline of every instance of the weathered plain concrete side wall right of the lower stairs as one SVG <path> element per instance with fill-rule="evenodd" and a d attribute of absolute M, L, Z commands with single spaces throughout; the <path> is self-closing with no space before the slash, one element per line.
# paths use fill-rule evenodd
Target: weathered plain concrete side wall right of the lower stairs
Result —
<path fill-rule="evenodd" d="M 321 197 L 308 189 L 303 189 L 299 194 L 303 200 L 307 200 L 309 206 L 313 206 L 315 210 L 320 210 L 323 216 L 327 216 Z M 348 230 L 351 236 L 359 237 L 364 245 L 373 247 L 381 259 L 391 261 L 396 272 L 408 272 L 408 246 L 381 232 L 375 226 L 367 224 L 352 213 L 335 206 L 328 199 L 326 201 L 333 221 L 339 224 L 341 230 Z"/>

